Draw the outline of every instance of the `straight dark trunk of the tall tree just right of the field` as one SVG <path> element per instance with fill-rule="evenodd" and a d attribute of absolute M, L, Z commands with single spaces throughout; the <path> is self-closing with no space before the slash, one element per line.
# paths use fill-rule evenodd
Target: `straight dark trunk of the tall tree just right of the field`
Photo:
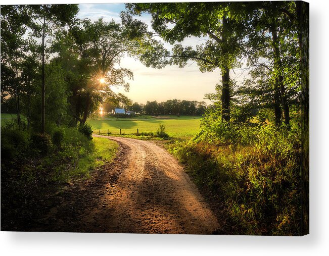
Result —
<path fill-rule="evenodd" d="M 228 51 L 227 47 L 227 18 L 223 17 L 223 27 L 222 27 L 222 47 L 223 52 L 226 53 Z M 222 75 L 222 121 L 229 122 L 230 120 L 230 109 L 229 109 L 229 100 L 230 100 L 230 93 L 229 93 L 229 68 L 225 65 L 225 68 L 222 68 L 221 75 Z"/>

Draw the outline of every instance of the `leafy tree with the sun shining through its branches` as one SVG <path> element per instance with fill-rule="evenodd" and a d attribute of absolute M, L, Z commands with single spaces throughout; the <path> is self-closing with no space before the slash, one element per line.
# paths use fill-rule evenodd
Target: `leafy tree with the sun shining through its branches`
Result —
<path fill-rule="evenodd" d="M 112 87 L 129 89 L 127 80 L 132 79 L 133 74 L 119 65 L 120 60 L 125 54 L 141 54 L 140 45 L 145 40 L 144 32 L 136 34 L 131 28 L 103 19 L 83 20 L 68 32 L 58 34 L 54 47 L 59 49 L 58 61 L 67 70 L 75 123 L 83 125 L 100 104 L 117 97 L 125 106 L 131 106 L 132 103 L 125 100 L 123 94 L 116 95 Z"/>

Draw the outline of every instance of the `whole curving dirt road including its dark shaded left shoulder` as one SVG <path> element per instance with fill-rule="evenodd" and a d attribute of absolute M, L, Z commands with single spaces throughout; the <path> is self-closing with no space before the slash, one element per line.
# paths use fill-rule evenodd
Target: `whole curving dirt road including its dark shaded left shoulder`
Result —
<path fill-rule="evenodd" d="M 212 234 L 216 230 L 216 217 L 165 149 L 151 141 L 110 138 L 120 145 L 115 162 L 59 195 L 62 204 L 40 220 L 49 222 L 44 231 Z"/>

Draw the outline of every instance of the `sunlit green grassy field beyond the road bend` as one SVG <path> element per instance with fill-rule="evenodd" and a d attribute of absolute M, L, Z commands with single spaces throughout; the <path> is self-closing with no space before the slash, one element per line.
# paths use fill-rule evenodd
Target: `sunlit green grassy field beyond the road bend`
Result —
<path fill-rule="evenodd" d="M 156 132 L 159 124 L 165 125 L 165 131 L 173 138 L 188 139 L 193 137 L 200 127 L 199 116 L 141 116 L 134 118 L 95 118 L 87 120 L 94 133 L 132 134 L 142 132 Z"/>

